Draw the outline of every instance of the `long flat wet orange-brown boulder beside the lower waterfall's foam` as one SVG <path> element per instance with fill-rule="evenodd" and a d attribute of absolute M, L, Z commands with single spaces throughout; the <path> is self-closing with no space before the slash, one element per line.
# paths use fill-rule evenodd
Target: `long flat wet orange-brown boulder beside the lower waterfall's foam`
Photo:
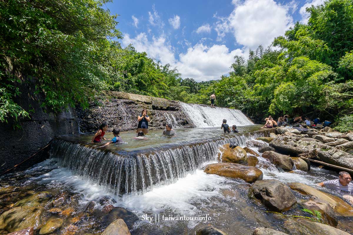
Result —
<path fill-rule="evenodd" d="M 262 171 L 253 166 L 243 166 L 237 163 L 213 163 L 207 165 L 204 172 L 207 174 L 216 174 L 229 178 L 239 178 L 247 183 L 254 183 L 263 177 Z"/>

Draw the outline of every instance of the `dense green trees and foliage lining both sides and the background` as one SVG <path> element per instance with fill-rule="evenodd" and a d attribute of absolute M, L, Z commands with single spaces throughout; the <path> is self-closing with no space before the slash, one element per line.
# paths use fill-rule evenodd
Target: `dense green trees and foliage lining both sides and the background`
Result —
<path fill-rule="evenodd" d="M 28 116 L 16 101 L 26 83 L 54 111 L 87 107 L 97 91 L 110 89 L 201 104 L 215 93 L 217 106 L 251 116 L 351 120 L 340 118 L 353 111 L 351 0 L 307 8 L 307 24 L 275 38 L 275 47 L 235 56 L 229 76 L 208 82 L 182 79 L 169 64 L 111 40 L 121 33 L 117 16 L 102 7 L 107 1 L 0 1 L 0 122 Z"/>

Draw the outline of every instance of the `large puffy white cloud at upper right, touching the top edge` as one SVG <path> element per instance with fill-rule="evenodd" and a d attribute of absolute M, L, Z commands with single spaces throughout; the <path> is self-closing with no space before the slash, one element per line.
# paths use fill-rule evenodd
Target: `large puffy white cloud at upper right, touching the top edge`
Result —
<path fill-rule="evenodd" d="M 267 47 L 293 26 L 288 7 L 273 0 L 246 0 L 235 6 L 228 21 L 237 43 L 250 48 Z"/>

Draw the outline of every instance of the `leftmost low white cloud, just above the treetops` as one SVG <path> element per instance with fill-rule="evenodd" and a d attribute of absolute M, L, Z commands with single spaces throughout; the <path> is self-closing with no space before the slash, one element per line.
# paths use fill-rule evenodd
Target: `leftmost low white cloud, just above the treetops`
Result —
<path fill-rule="evenodd" d="M 122 39 L 122 45 L 126 47 L 129 44 L 132 44 L 138 52 L 145 51 L 149 57 L 160 60 L 163 64 L 175 63 L 174 48 L 167 42 L 167 38 L 164 35 L 158 38 L 153 36 L 152 41 L 149 41 L 146 33 L 139 33 L 135 38 L 125 34 Z"/>

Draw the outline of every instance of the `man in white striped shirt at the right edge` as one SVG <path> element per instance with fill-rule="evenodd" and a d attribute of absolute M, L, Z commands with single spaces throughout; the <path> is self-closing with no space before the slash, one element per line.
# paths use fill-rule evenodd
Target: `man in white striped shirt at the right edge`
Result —
<path fill-rule="evenodd" d="M 353 205 L 353 183 L 351 181 L 351 175 L 346 171 L 341 171 L 338 179 L 328 180 L 319 185 L 343 194 L 343 198 Z"/>

